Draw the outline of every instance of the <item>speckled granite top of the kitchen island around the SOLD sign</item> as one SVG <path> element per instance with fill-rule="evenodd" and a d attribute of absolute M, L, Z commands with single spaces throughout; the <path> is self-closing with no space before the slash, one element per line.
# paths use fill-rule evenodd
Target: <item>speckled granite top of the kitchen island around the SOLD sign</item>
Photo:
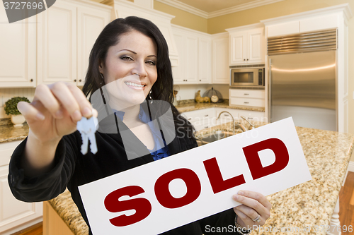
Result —
<path fill-rule="evenodd" d="M 228 123 L 200 133 L 230 129 L 231 124 Z M 326 229 L 323 228 L 331 222 L 353 151 L 354 136 L 312 128 L 297 127 L 296 130 L 312 180 L 268 195 L 267 198 L 273 205 L 271 216 L 263 229 L 256 229 L 251 234 L 269 234 L 269 229 L 278 229 L 277 234 L 326 234 Z M 49 203 L 74 234 L 88 234 L 86 224 L 68 191 Z M 349 224 L 341 224 L 343 225 Z"/>

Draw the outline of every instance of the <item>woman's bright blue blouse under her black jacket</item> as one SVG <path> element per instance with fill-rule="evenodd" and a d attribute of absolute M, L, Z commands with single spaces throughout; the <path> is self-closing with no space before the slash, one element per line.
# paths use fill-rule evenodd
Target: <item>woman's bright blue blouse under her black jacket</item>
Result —
<path fill-rule="evenodd" d="M 123 121 L 123 116 L 125 112 L 118 111 L 113 109 L 113 112 L 120 118 L 120 120 Z M 159 160 L 164 157 L 169 157 L 171 154 L 169 152 L 169 147 L 166 145 L 165 140 L 161 136 L 161 131 L 157 123 L 155 121 L 152 121 L 151 117 L 149 114 L 147 114 L 144 109 L 142 108 L 142 105 L 140 105 L 140 110 L 139 110 L 139 119 L 143 123 L 147 123 L 149 126 L 150 130 L 152 131 L 152 136 L 154 137 L 154 148 L 152 150 L 149 150 L 149 152 L 152 155 L 152 158 L 154 161 Z"/>

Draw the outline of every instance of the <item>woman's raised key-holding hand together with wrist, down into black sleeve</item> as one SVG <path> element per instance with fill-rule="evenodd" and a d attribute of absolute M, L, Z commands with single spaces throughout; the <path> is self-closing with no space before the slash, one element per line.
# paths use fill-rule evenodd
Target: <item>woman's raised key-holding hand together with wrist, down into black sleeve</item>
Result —
<path fill-rule="evenodd" d="M 82 116 L 97 116 L 84 93 L 70 83 L 38 85 L 33 102 L 17 107 L 30 127 L 21 163 L 28 176 L 50 171 L 62 137 L 76 131 Z"/>

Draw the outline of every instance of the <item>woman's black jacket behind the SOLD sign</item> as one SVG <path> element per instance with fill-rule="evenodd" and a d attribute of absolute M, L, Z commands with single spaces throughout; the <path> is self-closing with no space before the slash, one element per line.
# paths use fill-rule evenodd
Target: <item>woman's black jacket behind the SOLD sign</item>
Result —
<path fill-rule="evenodd" d="M 13 195 L 18 200 L 25 202 L 38 202 L 55 198 L 64 192 L 65 188 L 68 188 L 72 193 L 74 203 L 76 203 L 88 225 L 89 221 L 86 217 L 78 186 L 154 161 L 150 154 L 128 160 L 120 133 L 108 134 L 99 131 L 96 132 L 98 147 L 96 155 L 91 152 L 82 155 L 80 152 L 81 135 L 79 131 L 76 131 L 70 135 L 65 135 L 60 140 L 55 153 L 53 169 L 46 174 L 30 178 L 25 176 L 23 169 L 21 169 L 21 157 L 23 157 L 26 141 L 27 138 L 16 147 L 9 165 L 8 183 Z M 135 144 L 142 145 L 139 140 Z M 176 131 L 176 138 L 168 146 L 171 155 L 174 155 L 198 145 L 193 138 L 188 138 L 185 133 Z M 234 218 L 234 210 L 230 209 L 166 231 L 164 234 L 237 234 L 237 232 L 212 233 L 212 229 L 210 229 L 212 227 L 234 227 Z M 92 234 L 91 229 L 90 234 Z"/>

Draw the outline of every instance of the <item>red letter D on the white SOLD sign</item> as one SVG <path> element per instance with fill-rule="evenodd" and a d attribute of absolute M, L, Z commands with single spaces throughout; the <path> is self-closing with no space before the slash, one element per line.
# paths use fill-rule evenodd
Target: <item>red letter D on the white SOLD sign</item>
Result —
<path fill-rule="evenodd" d="M 287 147 L 277 138 L 263 140 L 242 148 L 246 157 L 247 163 L 253 180 L 268 176 L 275 172 L 284 169 L 289 162 L 289 152 Z M 275 162 L 267 167 L 263 167 L 258 152 L 261 150 L 270 149 L 275 154 Z"/>

